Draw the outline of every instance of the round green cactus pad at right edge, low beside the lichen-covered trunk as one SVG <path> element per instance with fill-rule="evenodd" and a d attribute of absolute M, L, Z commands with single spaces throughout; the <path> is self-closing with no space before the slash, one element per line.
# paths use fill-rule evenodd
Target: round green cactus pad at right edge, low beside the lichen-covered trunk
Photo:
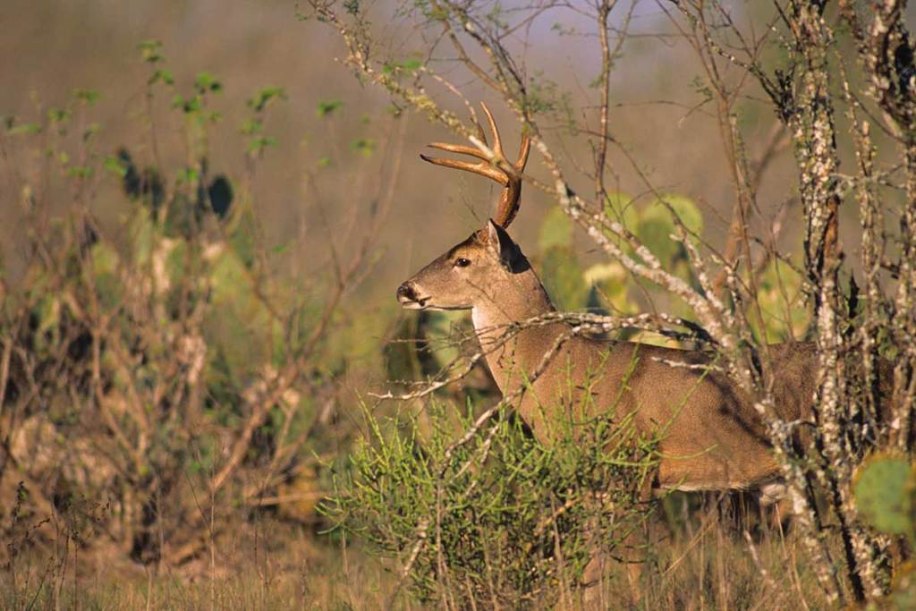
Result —
<path fill-rule="evenodd" d="M 875 529 L 891 535 L 913 533 L 913 467 L 909 461 L 876 456 L 853 481 L 856 506 Z"/>

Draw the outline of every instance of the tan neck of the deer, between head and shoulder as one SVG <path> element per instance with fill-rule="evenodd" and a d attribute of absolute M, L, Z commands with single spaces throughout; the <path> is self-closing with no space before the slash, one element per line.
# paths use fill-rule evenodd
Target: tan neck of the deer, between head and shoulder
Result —
<path fill-rule="evenodd" d="M 530 268 L 513 274 L 492 295 L 492 299 L 474 306 L 471 317 L 486 364 L 506 396 L 537 369 L 565 325 L 553 323 L 520 331 L 513 328 L 516 323 L 556 311 Z"/>

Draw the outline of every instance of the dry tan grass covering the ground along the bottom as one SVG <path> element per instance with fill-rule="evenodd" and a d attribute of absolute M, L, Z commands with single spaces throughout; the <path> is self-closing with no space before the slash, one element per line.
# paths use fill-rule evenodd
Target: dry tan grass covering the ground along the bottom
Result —
<path fill-rule="evenodd" d="M 682 511 L 697 498 L 674 497 L 655 521 L 642 599 L 630 600 L 627 573 L 615 564 L 603 584 L 608 609 L 825 608 L 801 544 L 755 518 L 716 507 Z M 701 503 L 702 505 L 702 503 Z M 676 520 L 674 529 L 667 523 Z M 743 522 L 743 524 L 742 524 Z M 745 531 L 755 534 L 747 540 Z M 753 551 L 752 551 L 753 546 Z M 756 558 L 755 558 L 756 555 Z M 264 518 L 240 524 L 199 558 L 177 568 L 145 569 L 89 542 L 74 558 L 32 550 L 16 560 L 16 584 L 0 573 L 8 609 L 418 609 L 385 562 L 358 544 Z M 41 584 L 39 586 L 39 584 Z M 460 587 L 460 584 L 455 585 Z M 488 608 L 480 601 L 480 608 Z M 579 608 L 573 604 L 573 608 Z"/>

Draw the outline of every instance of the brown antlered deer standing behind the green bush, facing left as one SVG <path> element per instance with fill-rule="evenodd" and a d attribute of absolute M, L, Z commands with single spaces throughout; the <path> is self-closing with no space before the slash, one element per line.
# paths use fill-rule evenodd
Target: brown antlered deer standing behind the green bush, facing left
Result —
<path fill-rule="evenodd" d="M 546 420 L 551 409 L 563 409 L 561 394 L 571 383 L 581 387 L 586 376 L 593 376 L 588 385 L 593 409 L 613 405 L 616 415 L 632 413 L 637 430 L 645 434 L 665 427 L 647 496 L 664 490 L 741 490 L 756 492 L 762 505 L 780 501 L 785 486 L 764 423 L 741 387 L 724 372 L 704 370 L 710 362 L 707 355 L 583 335 L 562 341 L 570 332 L 570 324 L 562 321 L 523 326 L 558 313 L 529 260 L 507 233 L 519 210 L 531 140 L 523 134 L 518 158 L 508 161 L 493 115 L 481 105 L 493 135 L 492 156 L 478 147 L 434 142 L 430 147 L 476 160 L 424 154 L 420 158 L 495 180 L 503 187 L 496 215 L 402 283 L 397 289 L 401 307 L 471 311 L 474 333 L 496 386 L 504 398 L 517 396 L 514 409 L 540 442 L 551 441 Z M 480 141 L 489 147 L 481 125 L 474 125 Z M 554 355 L 545 366 L 542 360 L 551 350 Z M 808 419 L 815 391 L 810 373 L 816 366 L 814 345 L 771 344 L 769 355 L 777 416 Z M 539 367 L 540 375 L 530 381 L 529 375 Z M 594 584 L 601 565 L 596 551 L 583 579 Z M 628 566 L 638 598 L 639 563 Z"/>

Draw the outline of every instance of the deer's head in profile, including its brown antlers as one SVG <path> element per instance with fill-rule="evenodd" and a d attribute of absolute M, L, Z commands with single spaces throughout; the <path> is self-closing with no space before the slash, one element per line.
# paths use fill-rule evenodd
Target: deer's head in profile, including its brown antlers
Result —
<path fill-rule="evenodd" d="M 460 161 L 420 155 L 424 161 L 445 168 L 463 169 L 496 180 L 503 186 L 496 218 L 474 232 L 444 255 L 398 287 L 398 302 L 408 310 L 470 310 L 481 302 L 492 302 L 515 282 L 518 274 L 529 270 L 528 260 L 506 229 L 518 213 L 521 196 L 521 175 L 528 162 L 531 142 L 522 136 L 518 160 L 507 161 L 496 122 L 485 104 L 481 104 L 493 133 L 493 158 L 476 147 L 434 142 L 430 146 L 477 158 Z M 481 141 L 486 144 L 483 128 L 474 122 Z M 489 145 L 487 145 L 489 146 Z M 539 284 L 540 287 L 540 284 Z"/>

